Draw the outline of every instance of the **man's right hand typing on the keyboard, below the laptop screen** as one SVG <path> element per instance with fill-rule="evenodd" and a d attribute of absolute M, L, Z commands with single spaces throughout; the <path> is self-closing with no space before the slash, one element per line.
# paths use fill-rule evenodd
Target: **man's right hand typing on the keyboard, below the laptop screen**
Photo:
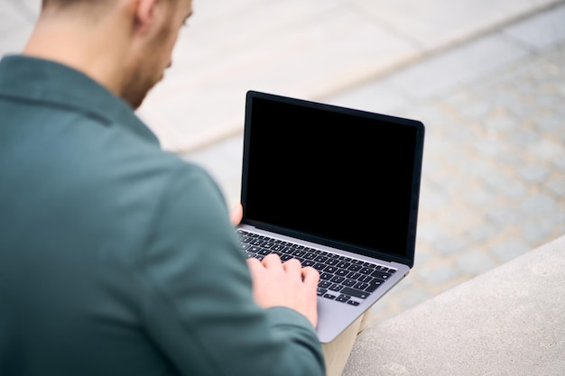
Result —
<path fill-rule="evenodd" d="M 247 264 L 259 307 L 289 307 L 306 316 L 312 326 L 318 325 L 318 271 L 302 268 L 298 260 L 282 263 L 276 254 L 267 255 L 263 261 L 248 259 Z"/>

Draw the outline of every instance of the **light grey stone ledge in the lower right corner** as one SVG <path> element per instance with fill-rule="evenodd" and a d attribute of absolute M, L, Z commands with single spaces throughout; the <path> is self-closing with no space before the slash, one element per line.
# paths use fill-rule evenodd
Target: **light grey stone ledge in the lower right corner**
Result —
<path fill-rule="evenodd" d="M 565 236 L 366 330 L 344 376 L 565 374 Z"/>

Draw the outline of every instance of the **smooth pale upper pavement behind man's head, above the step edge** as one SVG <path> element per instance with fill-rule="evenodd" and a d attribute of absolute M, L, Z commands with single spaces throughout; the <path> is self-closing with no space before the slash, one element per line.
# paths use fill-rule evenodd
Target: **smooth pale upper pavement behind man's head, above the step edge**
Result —
<path fill-rule="evenodd" d="M 139 114 L 168 150 L 243 126 L 250 88 L 323 100 L 559 0 L 194 0 L 173 67 Z M 21 50 L 40 0 L 0 3 L 0 54 Z"/>

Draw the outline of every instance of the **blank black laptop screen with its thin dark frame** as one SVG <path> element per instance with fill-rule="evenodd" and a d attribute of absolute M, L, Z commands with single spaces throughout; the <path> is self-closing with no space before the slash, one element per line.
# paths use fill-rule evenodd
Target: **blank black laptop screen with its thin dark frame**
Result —
<path fill-rule="evenodd" d="M 250 92 L 244 220 L 413 264 L 422 142 L 420 122 Z"/>

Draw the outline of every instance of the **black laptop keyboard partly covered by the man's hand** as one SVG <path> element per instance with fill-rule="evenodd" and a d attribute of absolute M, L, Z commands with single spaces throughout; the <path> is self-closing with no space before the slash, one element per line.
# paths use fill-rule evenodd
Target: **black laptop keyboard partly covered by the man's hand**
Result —
<path fill-rule="evenodd" d="M 258 260 L 276 253 L 282 261 L 297 259 L 303 267 L 320 272 L 318 296 L 358 306 L 389 279 L 396 270 L 372 262 L 352 259 L 337 253 L 305 247 L 280 239 L 237 230 L 246 258 Z"/>

